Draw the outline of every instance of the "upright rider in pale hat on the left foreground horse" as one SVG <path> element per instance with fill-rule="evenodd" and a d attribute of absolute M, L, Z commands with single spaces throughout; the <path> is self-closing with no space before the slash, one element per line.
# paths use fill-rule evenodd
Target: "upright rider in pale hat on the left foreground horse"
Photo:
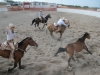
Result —
<path fill-rule="evenodd" d="M 16 37 L 14 30 L 15 30 L 15 26 L 12 23 L 10 23 L 9 30 L 7 30 L 7 43 L 12 49 L 10 52 L 10 56 L 9 56 L 9 59 L 11 59 L 11 60 L 14 60 L 13 59 L 13 54 L 14 54 L 14 50 L 15 50 L 14 39 Z"/>

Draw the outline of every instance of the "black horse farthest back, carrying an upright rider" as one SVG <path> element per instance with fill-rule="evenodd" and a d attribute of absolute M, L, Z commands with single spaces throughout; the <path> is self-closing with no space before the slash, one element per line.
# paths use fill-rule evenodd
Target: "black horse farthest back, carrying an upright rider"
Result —
<path fill-rule="evenodd" d="M 42 21 L 40 20 L 40 18 L 35 18 L 35 19 L 32 20 L 32 24 L 31 25 L 33 25 L 34 22 L 35 22 L 35 27 L 36 27 L 36 24 L 37 24 L 38 28 L 40 29 L 39 22 L 41 22 L 41 23 L 44 23 L 44 25 L 42 27 L 42 29 L 43 29 L 45 27 L 45 25 L 47 25 L 47 21 L 48 21 L 49 18 L 51 18 L 50 14 L 48 14 L 45 18 L 43 18 L 44 20 L 42 20 Z"/>

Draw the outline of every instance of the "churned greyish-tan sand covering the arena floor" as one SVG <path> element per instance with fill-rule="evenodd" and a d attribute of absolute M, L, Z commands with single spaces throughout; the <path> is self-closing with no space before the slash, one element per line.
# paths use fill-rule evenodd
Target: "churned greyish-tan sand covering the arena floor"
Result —
<path fill-rule="evenodd" d="M 58 41 L 59 33 L 53 39 L 45 29 L 39 30 L 35 26 L 30 26 L 33 18 L 38 16 L 37 11 L 8 11 L 0 12 L 0 42 L 6 40 L 6 27 L 13 23 L 17 27 L 19 41 L 31 36 L 39 47 L 33 47 L 25 53 L 22 58 L 24 69 L 18 67 L 11 73 L 7 69 L 13 66 L 8 59 L 0 57 L 0 75 L 99 75 L 100 74 L 100 18 L 80 14 L 63 12 L 43 12 L 44 16 L 51 14 L 48 24 L 57 22 L 60 17 L 65 16 L 70 21 L 70 28 L 66 29 L 61 41 Z M 40 24 L 42 27 L 43 24 Z M 54 57 L 59 47 L 65 47 L 68 43 L 75 42 L 84 32 L 91 35 L 91 39 L 86 39 L 86 45 L 93 53 L 88 54 L 85 50 L 75 55 L 78 63 L 71 61 L 72 70 L 68 69 L 69 55 L 60 53 Z M 30 47 L 30 46 L 28 46 Z"/>

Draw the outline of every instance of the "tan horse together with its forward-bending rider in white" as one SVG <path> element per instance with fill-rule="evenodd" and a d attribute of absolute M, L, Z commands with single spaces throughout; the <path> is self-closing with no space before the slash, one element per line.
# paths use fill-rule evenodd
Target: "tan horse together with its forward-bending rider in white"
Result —
<path fill-rule="evenodd" d="M 59 19 L 57 24 L 53 23 L 53 24 L 48 25 L 47 28 L 46 28 L 46 32 L 47 32 L 47 29 L 48 29 L 50 31 L 50 35 L 52 37 L 54 37 L 53 32 L 60 33 L 60 38 L 59 38 L 59 40 L 60 40 L 61 37 L 62 37 L 62 34 L 64 33 L 64 31 L 66 29 L 66 26 L 68 26 L 68 28 L 69 28 L 70 22 L 69 22 L 68 19 L 65 19 L 65 17 L 63 17 L 63 18 Z"/>

